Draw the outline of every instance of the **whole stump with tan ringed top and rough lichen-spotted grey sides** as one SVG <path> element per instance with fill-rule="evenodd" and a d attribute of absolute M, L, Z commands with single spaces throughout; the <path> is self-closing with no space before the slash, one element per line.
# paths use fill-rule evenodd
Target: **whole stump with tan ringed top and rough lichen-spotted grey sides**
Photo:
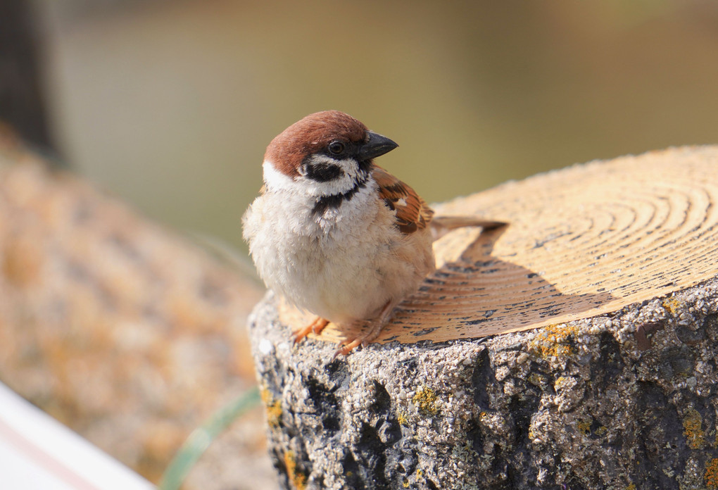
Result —
<path fill-rule="evenodd" d="M 717 489 L 718 147 L 576 165 L 436 206 L 378 343 L 251 316 L 285 489 Z"/>

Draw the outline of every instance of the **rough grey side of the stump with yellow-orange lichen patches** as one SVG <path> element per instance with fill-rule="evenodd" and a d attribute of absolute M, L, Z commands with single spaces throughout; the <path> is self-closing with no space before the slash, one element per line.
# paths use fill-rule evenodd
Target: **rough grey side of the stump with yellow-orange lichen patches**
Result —
<path fill-rule="evenodd" d="M 485 341 L 289 343 L 251 317 L 285 489 L 715 489 L 718 281 Z"/>

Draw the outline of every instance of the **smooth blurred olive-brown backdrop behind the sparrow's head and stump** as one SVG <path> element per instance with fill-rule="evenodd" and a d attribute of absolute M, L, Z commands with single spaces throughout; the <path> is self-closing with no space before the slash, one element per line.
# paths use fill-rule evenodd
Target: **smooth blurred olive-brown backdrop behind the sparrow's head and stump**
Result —
<path fill-rule="evenodd" d="M 401 148 L 436 202 L 717 142 L 718 2 L 37 0 L 62 160 L 145 214 L 243 247 L 266 144 L 327 108 Z"/>

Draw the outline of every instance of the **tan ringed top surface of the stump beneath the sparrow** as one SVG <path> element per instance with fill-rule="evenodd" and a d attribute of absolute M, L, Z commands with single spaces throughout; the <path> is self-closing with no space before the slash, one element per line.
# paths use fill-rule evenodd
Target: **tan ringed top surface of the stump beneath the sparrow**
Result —
<path fill-rule="evenodd" d="M 378 341 L 449 341 L 610 313 L 718 274 L 718 147 L 575 165 L 435 206 L 507 221 L 434 244 L 437 272 Z M 281 319 L 309 318 L 281 305 Z M 350 332 L 329 325 L 323 340 Z"/>

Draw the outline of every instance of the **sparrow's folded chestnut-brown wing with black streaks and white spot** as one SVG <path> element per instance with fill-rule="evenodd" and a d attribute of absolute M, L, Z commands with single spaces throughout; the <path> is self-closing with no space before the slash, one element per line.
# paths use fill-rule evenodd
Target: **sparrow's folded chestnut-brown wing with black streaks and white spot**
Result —
<path fill-rule="evenodd" d="M 379 195 L 396 213 L 396 226 L 404 234 L 423 230 L 432 221 L 434 211 L 423 199 L 401 180 L 381 167 L 374 167 L 374 180 L 379 185 Z"/>

